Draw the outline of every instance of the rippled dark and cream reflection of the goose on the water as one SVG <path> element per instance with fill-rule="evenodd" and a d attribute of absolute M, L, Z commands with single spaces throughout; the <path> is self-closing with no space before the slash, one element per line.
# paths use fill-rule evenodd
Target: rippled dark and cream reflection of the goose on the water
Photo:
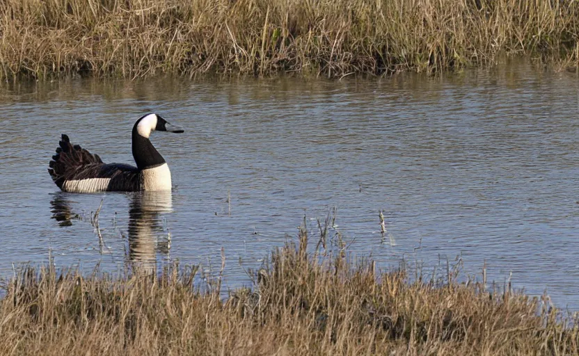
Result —
<path fill-rule="evenodd" d="M 127 262 L 135 271 L 155 273 L 157 253 L 168 255 L 170 249 L 164 216 L 173 211 L 171 192 L 145 191 L 128 196 L 130 202 Z M 70 197 L 70 193 L 58 192 L 50 202 L 52 218 L 63 227 L 72 226 L 72 220 L 84 220 L 72 211 Z"/>

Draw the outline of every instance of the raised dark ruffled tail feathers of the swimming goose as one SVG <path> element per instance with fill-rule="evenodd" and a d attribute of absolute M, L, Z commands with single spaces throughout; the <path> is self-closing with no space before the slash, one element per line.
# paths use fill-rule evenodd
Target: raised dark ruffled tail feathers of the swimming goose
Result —
<path fill-rule="evenodd" d="M 80 145 L 72 145 L 65 134 L 62 135 L 58 146 L 48 168 L 50 177 L 58 188 L 62 189 L 64 182 L 74 178 L 75 173 L 86 165 L 104 164 L 97 154 L 91 154 Z"/>

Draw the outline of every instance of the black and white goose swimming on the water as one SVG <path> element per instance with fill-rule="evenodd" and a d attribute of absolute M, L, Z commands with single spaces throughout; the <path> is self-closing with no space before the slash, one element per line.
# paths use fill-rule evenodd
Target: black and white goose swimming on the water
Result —
<path fill-rule="evenodd" d="M 132 133 L 132 151 L 136 167 L 124 163 L 104 163 L 79 145 L 72 145 L 63 134 L 48 172 L 62 191 L 96 193 L 102 191 L 170 191 L 171 173 L 165 159 L 154 148 L 152 131 L 182 133 L 156 113 L 136 120 Z"/>

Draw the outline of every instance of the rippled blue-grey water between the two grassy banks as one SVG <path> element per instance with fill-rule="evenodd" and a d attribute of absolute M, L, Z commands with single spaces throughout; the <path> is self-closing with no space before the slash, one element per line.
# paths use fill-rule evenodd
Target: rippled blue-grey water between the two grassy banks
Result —
<path fill-rule="evenodd" d="M 6 85 L 0 275 L 50 254 L 86 271 L 175 260 L 216 271 L 223 248 L 224 286 L 235 288 L 304 216 L 315 232 L 335 208 L 330 236 L 340 232 L 352 259 L 431 273 L 460 256 L 463 275 L 480 280 L 486 264 L 489 280 L 512 273 L 514 287 L 576 310 L 578 108 L 575 74 L 527 65 L 442 78 Z M 185 129 L 152 136 L 171 195 L 58 191 L 47 166 L 61 133 L 132 163 L 132 125 L 149 111 Z"/>

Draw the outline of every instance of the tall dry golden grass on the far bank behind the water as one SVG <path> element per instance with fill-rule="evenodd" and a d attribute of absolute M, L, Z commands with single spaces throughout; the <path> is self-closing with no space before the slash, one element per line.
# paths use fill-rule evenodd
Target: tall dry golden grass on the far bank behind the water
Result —
<path fill-rule="evenodd" d="M 4 0 L 0 77 L 441 72 L 575 66 L 571 0 Z"/>

